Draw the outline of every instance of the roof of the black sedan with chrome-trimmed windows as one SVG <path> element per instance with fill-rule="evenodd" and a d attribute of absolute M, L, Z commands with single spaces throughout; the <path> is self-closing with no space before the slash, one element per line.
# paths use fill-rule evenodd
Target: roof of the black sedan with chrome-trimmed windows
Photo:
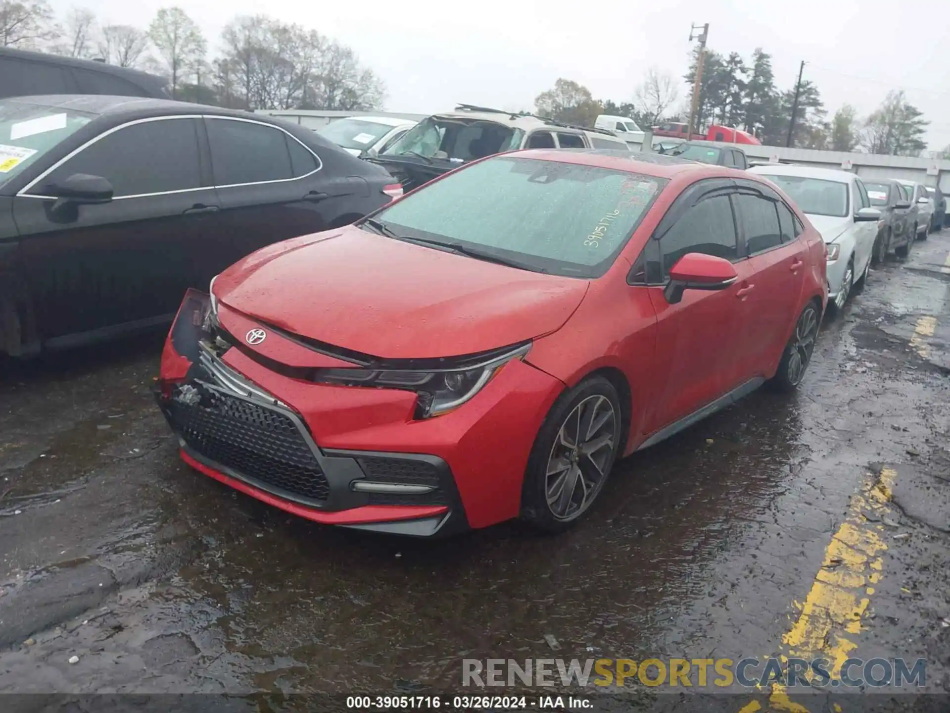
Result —
<path fill-rule="evenodd" d="M 137 119 L 162 114 L 208 114 L 212 116 L 234 116 L 241 119 L 254 119 L 263 123 L 275 122 L 274 117 L 252 114 L 249 111 L 225 109 L 220 106 L 176 102 L 171 99 L 150 99 L 143 97 L 119 97 L 109 94 L 44 94 L 27 97 L 9 97 L 2 102 L 17 102 L 34 106 L 48 106 L 58 109 L 72 109 L 98 116 Z"/>

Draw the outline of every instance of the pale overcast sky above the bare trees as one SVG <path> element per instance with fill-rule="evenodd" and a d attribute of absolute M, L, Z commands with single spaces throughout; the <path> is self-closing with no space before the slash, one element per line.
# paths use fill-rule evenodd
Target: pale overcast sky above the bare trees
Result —
<path fill-rule="evenodd" d="M 52 0 L 104 24 L 146 27 L 162 0 Z M 772 56 L 775 83 L 793 87 L 799 62 L 828 115 L 849 103 L 865 116 L 903 88 L 931 122 L 928 148 L 950 145 L 950 2 L 914 0 L 654 0 L 435 2 L 414 0 L 180 0 L 214 50 L 238 14 L 266 12 L 350 45 L 384 79 L 390 111 L 431 113 L 456 103 L 533 108 L 559 77 L 596 99 L 629 100 L 654 65 L 686 71 L 690 25 L 710 23 L 708 47 Z M 680 88 L 680 101 L 688 88 Z"/>

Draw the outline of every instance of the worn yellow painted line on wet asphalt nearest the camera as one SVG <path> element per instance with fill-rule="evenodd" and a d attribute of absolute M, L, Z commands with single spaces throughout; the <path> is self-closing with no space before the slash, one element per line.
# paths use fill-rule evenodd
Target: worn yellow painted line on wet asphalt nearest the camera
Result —
<path fill-rule="evenodd" d="M 932 334 L 932 332 L 931 332 Z M 782 637 L 783 661 L 788 657 L 826 658 L 831 662 L 832 679 L 841 679 L 841 667 L 858 647 L 862 619 L 874 593 L 874 585 L 883 574 L 883 525 L 871 523 L 864 512 L 887 511 L 897 472 L 884 468 L 880 476 L 868 476 L 860 491 L 851 496 L 845 520 L 831 537 L 825 559 L 804 602 L 793 602 L 799 614 Z M 810 674 L 810 671 L 809 671 Z M 756 703 L 755 707 L 750 707 Z M 739 713 L 761 708 L 752 702 Z M 788 713 L 807 713 L 807 708 L 788 699 L 783 685 L 772 684 L 769 709 Z"/>

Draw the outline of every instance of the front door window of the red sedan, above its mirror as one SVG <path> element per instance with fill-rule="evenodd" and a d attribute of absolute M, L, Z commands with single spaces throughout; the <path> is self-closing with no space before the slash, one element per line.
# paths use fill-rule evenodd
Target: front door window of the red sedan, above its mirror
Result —
<path fill-rule="evenodd" d="M 737 260 L 739 250 L 729 196 L 720 193 L 698 202 L 673 224 L 659 244 L 664 279 L 670 277 L 670 268 L 687 253 Z"/>

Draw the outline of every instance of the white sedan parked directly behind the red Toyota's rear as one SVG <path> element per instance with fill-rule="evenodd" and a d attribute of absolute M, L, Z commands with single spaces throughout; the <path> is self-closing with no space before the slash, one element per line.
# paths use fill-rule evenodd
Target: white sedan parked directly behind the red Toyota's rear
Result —
<path fill-rule="evenodd" d="M 867 279 L 883 219 L 871 207 L 864 183 L 847 171 L 803 165 L 757 165 L 749 171 L 785 191 L 822 234 L 828 250 L 828 303 L 844 307 L 851 288 Z"/>

